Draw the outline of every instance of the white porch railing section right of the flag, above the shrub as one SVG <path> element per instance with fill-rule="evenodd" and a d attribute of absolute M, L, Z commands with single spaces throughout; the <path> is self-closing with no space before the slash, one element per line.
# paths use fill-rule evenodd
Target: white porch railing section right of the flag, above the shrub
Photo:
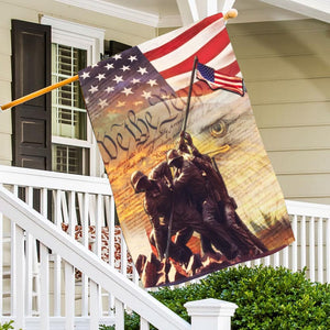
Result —
<path fill-rule="evenodd" d="M 330 283 L 330 206 L 286 200 L 295 242 L 282 251 L 246 262 L 284 266 L 294 272 L 306 267 L 312 282 Z"/>

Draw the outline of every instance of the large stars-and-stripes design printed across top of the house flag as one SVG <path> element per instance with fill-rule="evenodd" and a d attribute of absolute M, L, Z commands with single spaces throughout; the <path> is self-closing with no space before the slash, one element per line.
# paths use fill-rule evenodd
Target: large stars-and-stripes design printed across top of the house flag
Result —
<path fill-rule="evenodd" d="M 240 76 L 222 13 L 79 72 L 91 120 L 102 111 L 140 110 L 179 96 L 188 89 L 195 56 L 218 73 Z M 204 92 L 209 94 L 209 88 Z"/>

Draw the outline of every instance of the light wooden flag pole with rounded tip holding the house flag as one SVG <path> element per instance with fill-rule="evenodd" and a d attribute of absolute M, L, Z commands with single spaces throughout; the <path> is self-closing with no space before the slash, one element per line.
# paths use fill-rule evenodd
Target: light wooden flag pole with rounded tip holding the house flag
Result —
<path fill-rule="evenodd" d="M 228 21 L 229 19 L 234 19 L 234 18 L 237 18 L 237 16 L 238 16 L 238 11 L 237 11 L 235 9 L 230 9 L 230 10 L 223 15 L 223 19 L 224 19 L 226 21 Z M 78 80 L 78 79 L 79 79 L 79 77 L 78 77 L 78 75 L 76 75 L 76 76 L 74 76 L 74 77 L 67 78 L 67 79 L 62 80 L 62 81 L 59 81 L 59 82 L 56 82 L 56 84 L 54 84 L 54 85 L 51 85 L 51 86 L 47 86 L 47 87 L 45 87 L 45 88 L 38 89 L 38 90 L 34 91 L 34 92 L 31 92 L 31 94 L 29 94 L 29 95 L 26 95 L 26 96 L 23 96 L 23 97 L 19 98 L 19 99 L 15 99 L 15 100 L 13 100 L 13 101 L 11 101 L 11 102 L 8 102 L 8 103 L 6 103 L 6 105 L 3 105 L 3 106 L 0 106 L 0 112 L 3 111 L 3 110 L 10 109 L 10 108 L 12 108 L 12 107 L 22 105 L 22 103 L 24 103 L 24 102 L 28 102 L 28 101 L 30 101 L 30 100 L 32 100 L 32 99 L 34 99 L 34 98 L 37 98 L 37 97 L 40 97 L 40 96 L 42 96 L 42 95 L 44 95 L 44 94 L 46 94 L 46 92 L 52 91 L 53 89 L 59 88 L 59 87 L 62 87 L 62 86 L 65 86 L 65 85 L 67 85 L 67 84 L 70 84 L 70 82 L 73 82 L 73 81 L 76 81 L 76 80 Z"/>

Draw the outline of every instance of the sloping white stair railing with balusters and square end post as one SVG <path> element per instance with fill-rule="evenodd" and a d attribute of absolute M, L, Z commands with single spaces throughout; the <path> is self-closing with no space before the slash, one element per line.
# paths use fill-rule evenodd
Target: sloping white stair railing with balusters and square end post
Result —
<path fill-rule="evenodd" d="M 230 329 L 230 317 L 237 308 L 234 304 L 216 299 L 189 302 L 187 304 L 187 310 L 191 316 L 190 326 L 144 289 L 101 261 L 96 253 L 88 249 L 89 246 L 77 242 L 73 237 L 67 235 L 57 223 L 52 223 L 45 218 L 47 191 L 46 189 L 41 191 L 42 213 L 35 211 L 3 186 L 0 186 L 1 215 L 11 219 L 12 235 L 10 239 L 11 254 L 13 256 L 11 260 L 10 280 L 11 288 L 14 288 L 11 293 L 10 316 L 8 318 L 1 317 L 1 321 L 13 319 L 15 328 L 29 330 L 97 330 L 102 322 L 100 315 L 102 310 L 100 308 L 102 304 L 101 290 L 106 290 L 109 294 L 111 293 L 111 298 L 114 301 L 112 319 L 108 317 L 106 321 L 114 323 L 118 330 L 124 329 L 125 308 L 140 315 L 140 329 L 147 330 L 150 329 L 150 323 L 152 323 L 157 329 L 163 330 L 197 330 L 200 322 L 206 324 L 209 330 Z M 85 212 L 86 220 L 88 212 Z M 82 232 L 86 234 L 84 224 Z M 31 270 L 33 270 L 33 260 L 36 255 L 34 253 L 35 240 L 40 243 L 40 280 L 37 282 L 40 282 L 41 306 L 40 315 L 33 317 L 33 275 Z M 62 306 L 56 299 L 54 300 L 54 306 L 56 304 L 59 305 L 59 315 L 54 315 L 58 308 L 51 308 L 51 255 L 55 255 L 54 263 L 56 260 L 61 261 L 59 273 L 64 273 L 65 304 Z M 75 317 L 75 268 L 81 270 L 81 290 L 86 290 L 85 299 L 87 301 L 85 305 L 82 295 L 81 317 L 79 319 Z M 56 274 L 56 272 L 54 267 L 54 277 L 57 277 L 56 279 L 58 280 L 62 274 Z M 84 286 L 84 280 L 87 283 L 86 287 Z M 58 286 L 54 278 L 55 287 L 62 292 L 62 286 Z M 2 296 L 2 286 L 0 287 L 0 294 Z M 211 314 L 208 310 L 209 308 L 207 308 L 208 306 L 212 310 Z M 64 310 L 62 311 L 62 309 Z M 51 310 L 53 310 L 53 315 L 50 312 Z M 205 315 L 202 315 L 202 310 L 205 310 Z"/>

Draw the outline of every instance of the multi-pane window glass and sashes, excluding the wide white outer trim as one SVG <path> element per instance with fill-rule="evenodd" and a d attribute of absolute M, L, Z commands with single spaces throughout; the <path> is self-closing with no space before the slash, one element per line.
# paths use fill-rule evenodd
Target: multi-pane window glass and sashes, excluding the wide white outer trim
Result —
<path fill-rule="evenodd" d="M 86 50 L 52 44 L 52 84 L 75 76 L 86 66 Z M 81 141 L 87 141 L 87 113 L 78 81 L 53 90 L 52 134 L 70 139 L 53 143 L 53 170 L 88 175 L 90 147 L 81 146 Z"/>

